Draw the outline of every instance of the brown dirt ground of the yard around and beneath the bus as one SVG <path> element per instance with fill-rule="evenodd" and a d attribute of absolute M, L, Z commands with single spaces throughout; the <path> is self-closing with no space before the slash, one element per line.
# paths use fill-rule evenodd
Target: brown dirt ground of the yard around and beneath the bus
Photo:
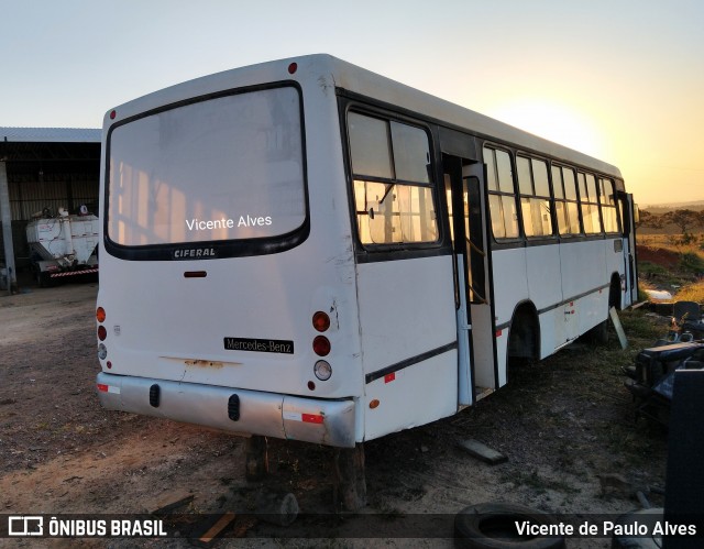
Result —
<path fill-rule="evenodd" d="M 270 475 L 248 483 L 243 439 L 103 410 L 95 394 L 96 294 L 94 283 L 30 286 L 0 296 L 0 514 L 150 513 L 184 494 L 191 498 L 180 513 L 240 513 L 252 510 L 260 492 L 276 490 L 296 496 L 300 537 L 249 517 L 243 524 L 235 520 L 230 537 L 216 547 L 367 547 L 371 541 L 407 547 L 409 540 L 389 535 L 385 525 L 408 531 L 433 524 L 433 537 L 417 536 L 422 539 L 411 545 L 452 547 L 452 517 L 472 504 L 616 516 L 638 508 L 635 494 L 642 491 L 653 505 L 662 505 L 667 431 L 635 422 L 620 373 L 649 343 L 648 336 L 629 333 L 627 351 L 615 337 L 606 347 L 578 342 L 538 364 L 512 369 L 509 384 L 472 408 L 367 442 L 369 506 L 348 517 L 326 515 L 336 508 L 329 448 L 270 439 Z M 422 396 L 415 397 L 420 405 Z M 465 439 L 508 460 L 498 465 L 479 461 L 458 448 Z M 381 534 L 365 526 L 374 517 L 385 519 Z M 241 539 L 233 539 L 233 532 Z M 364 538 L 375 534 L 386 539 Z M 340 536 L 345 539 L 336 539 Z M 314 543 L 306 538 L 324 539 Z M 0 546 L 3 541 L 35 547 L 8 539 L 0 539 Z M 77 543 L 43 540 L 38 546 Z M 184 540 L 166 545 L 189 547 Z M 606 548 L 610 540 L 575 539 L 569 547 Z"/>

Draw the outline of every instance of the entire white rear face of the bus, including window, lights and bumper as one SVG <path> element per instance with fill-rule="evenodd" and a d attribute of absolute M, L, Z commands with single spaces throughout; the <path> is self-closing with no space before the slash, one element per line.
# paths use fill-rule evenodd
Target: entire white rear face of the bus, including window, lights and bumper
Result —
<path fill-rule="evenodd" d="M 186 83 L 107 114 L 105 407 L 339 447 L 362 439 L 334 98 L 287 67 Z M 310 154 L 329 161 L 311 166 Z"/>

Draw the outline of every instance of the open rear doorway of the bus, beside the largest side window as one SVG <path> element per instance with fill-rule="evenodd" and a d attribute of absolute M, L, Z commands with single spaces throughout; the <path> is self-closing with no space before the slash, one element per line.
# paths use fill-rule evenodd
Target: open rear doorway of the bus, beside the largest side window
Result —
<path fill-rule="evenodd" d="M 459 405 L 494 392 L 496 340 L 483 164 L 443 155 L 455 270 Z"/>

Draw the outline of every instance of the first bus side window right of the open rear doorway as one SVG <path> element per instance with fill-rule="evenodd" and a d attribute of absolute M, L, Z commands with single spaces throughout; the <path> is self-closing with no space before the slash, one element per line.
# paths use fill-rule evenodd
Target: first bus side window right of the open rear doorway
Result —
<path fill-rule="evenodd" d="M 492 232 L 496 240 L 518 238 L 518 211 L 514 193 L 510 155 L 499 149 L 484 147 L 487 166 L 488 206 Z"/>

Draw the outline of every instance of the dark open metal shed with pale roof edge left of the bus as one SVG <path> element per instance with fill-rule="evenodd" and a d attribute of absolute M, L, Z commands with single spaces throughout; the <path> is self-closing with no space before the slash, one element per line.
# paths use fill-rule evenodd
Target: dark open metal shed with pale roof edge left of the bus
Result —
<path fill-rule="evenodd" d="M 0 127 L 0 283 L 15 286 L 18 270 L 29 266 L 25 228 L 36 212 L 81 205 L 97 211 L 100 135 L 99 129 Z"/>

